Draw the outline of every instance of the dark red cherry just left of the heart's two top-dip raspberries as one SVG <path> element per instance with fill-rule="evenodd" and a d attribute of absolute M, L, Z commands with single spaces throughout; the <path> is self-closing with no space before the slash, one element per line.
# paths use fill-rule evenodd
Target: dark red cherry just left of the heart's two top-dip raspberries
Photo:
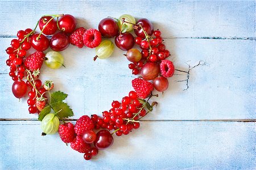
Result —
<path fill-rule="evenodd" d="M 52 50 L 60 52 L 69 46 L 69 38 L 65 33 L 59 32 L 52 36 L 50 40 L 50 46 Z"/>

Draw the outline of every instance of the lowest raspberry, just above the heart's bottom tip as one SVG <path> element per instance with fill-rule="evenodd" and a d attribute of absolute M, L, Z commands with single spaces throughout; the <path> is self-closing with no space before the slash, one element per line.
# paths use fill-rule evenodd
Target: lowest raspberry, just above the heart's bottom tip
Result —
<path fill-rule="evenodd" d="M 90 145 L 82 140 L 81 136 L 77 136 L 75 141 L 71 142 L 73 150 L 79 151 L 80 153 L 87 153 L 90 151 Z"/>

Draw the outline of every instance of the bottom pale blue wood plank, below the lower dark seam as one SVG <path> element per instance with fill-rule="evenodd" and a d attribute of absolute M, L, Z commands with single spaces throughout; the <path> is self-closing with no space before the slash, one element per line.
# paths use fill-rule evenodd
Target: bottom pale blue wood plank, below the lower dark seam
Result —
<path fill-rule="evenodd" d="M 255 123 L 142 122 L 91 161 L 40 125 L 0 122 L 1 169 L 254 169 Z"/>

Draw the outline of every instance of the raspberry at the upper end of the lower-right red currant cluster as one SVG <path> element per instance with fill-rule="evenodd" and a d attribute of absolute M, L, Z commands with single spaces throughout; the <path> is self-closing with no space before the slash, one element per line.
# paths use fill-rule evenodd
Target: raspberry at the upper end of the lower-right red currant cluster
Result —
<path fill-rule="evenodd" d="M 138 96 L 143 99 L 150 95 L 151 91 L 154 90 L 153 84 L 144 79 L 135 78 L 131 81 L 131 84 Z"/>

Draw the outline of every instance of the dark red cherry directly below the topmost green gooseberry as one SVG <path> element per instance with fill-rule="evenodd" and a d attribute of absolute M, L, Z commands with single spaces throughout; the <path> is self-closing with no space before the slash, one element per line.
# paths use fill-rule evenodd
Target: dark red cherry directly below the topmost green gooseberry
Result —
<path fill-rule="evenodd" d="M 133 48 L 135 42 L 131 33 L 125 32 L 115 37 L 115 45 L 121 50 L 127 51 Z"/>

